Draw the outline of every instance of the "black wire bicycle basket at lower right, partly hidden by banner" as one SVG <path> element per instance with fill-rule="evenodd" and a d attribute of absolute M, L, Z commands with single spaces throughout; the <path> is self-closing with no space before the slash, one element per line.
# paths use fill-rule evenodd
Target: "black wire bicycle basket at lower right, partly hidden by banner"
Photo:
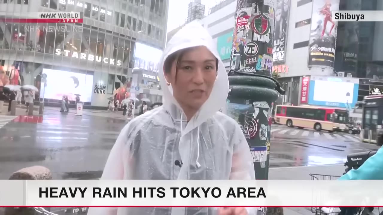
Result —
<path fill-rule="evenodd" d="M 322 175 L 322 174 L 309 174 L 311 177 L 311 180 L 337 180 L 340 178 L 340 176 L 331 176 L 331 175 Z M 347 208 L 347 210 L 350 210 L 349 212 L 340 212 L 340 209 L 338 207 L 312 207 L 311 212 L 315 213 L 315 215 L 342 215 L 342 214 L 354 214 L 359 215 L 361 213 L 360 208 L 354 208 L 350 207 Z"/>

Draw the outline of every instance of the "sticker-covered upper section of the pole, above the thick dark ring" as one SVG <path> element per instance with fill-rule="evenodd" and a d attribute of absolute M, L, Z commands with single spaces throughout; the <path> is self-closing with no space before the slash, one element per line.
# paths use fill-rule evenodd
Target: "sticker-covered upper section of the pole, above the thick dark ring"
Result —
<path fill-rule="evenodd" d="M 271 76 L 276 0 L 237 0 L 231 68 Z"/>

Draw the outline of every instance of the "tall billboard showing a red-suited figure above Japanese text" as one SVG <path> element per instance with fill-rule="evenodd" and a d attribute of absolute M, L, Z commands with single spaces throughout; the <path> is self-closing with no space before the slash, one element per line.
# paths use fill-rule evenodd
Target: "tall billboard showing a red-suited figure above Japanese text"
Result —
<path fill-rule="evenodd" d="M 331 11 L 339 10 L 339 0 L 313 0 L 308 67 L 334 68 L 337 23 Z"/>

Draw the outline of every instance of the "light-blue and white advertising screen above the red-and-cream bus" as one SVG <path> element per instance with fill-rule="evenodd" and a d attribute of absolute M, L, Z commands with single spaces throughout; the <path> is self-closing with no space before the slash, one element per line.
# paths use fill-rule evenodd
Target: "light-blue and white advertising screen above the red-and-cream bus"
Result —
<path fill-rule="evenodd" d="M 309 85 L 309 101 L 311 105 L 338 108 L 355 107 L 358 101 L 359 84 L 340 81 L 311 80 Z"/>

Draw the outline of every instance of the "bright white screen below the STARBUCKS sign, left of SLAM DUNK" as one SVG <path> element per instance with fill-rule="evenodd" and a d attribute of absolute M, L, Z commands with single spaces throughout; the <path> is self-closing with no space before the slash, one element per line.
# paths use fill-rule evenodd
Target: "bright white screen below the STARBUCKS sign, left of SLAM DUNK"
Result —
<path fill-rule="evenodd" d="M 43 68 L 43 73 L 47 75 L 47 84 L 45 89 L 42 86 L 41 98 L 61 100 L 62 96 L 68 96 L 69 100 L 74 101 L 75 94 L 80 94 L 80 101 L 91 101 L 93 75 L 46 68 Z"/>

